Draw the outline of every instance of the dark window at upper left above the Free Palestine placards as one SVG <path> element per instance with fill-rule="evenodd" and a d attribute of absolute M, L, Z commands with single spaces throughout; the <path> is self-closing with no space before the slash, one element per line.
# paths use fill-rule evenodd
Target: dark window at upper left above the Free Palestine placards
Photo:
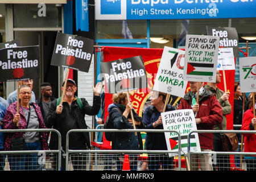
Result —
<path fill-rule="evenodd" d="M 14 28 L 61 27 L 61 6 L 14 4 Z"/>

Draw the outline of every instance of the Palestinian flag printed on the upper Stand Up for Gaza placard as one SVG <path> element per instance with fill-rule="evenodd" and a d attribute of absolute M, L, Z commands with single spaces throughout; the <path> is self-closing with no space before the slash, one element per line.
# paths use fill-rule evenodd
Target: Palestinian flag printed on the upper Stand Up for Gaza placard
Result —
<path fill-rule="evenodd" d="M 188 63 L 187 75 L 213 76 L 214 64 Z"/>

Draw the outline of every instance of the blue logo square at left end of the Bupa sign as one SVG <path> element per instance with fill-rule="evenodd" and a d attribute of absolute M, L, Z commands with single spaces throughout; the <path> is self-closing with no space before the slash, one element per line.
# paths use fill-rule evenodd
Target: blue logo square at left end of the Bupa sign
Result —
<path fill-rule="evenodd" d="M 121 0 L 101 0 L 101 14 L 121 14 Z"/>

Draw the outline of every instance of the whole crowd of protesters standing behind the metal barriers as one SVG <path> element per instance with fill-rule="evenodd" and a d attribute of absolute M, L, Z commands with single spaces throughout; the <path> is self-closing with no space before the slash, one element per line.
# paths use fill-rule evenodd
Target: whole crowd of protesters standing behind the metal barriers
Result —
<path fill-rule="evenodd" d="M 232 106 L 229 103 L 230 92 L 224 92 L 217 87 L 221 82 L 221 73 L 217 71 L 216 82 L 189 81 L 191 90 L 181 98 L 177 109 L 192 109 L 195 114 L 195 121 L 198 130 L 226 130 L 226 115 L 232 112 Z M 102 82 L 98 82 L 93 89 L 93 104 L 88 104 L 85 98 L 75 96 L 77 84 L 74 80 L 68 79 L 64 88 L 64 82 L 61 89 L 64 92 L 63 102 L 60 104 L 60 98 L 52 97 L 51 84 L 43 82 L 41 84 L 41 94 L 38 100 L 35 100 L 35 94 L 32 92 L 33 80 L 20 81 L 19 93 L 15 90 L 9 95 L 7 101 L 0 97 L 0 129 L 56 129 L 61 134 L 62 153 L 65 153 L 66 135 L 72 129 L 88 129 L 85 122 L 85 115 L 97 115 L 104 105 L 104 93 L 102 91 Z M 197 92 L 199 89 L 199 92 Z M 17 102 L 17 93 L 19 102 Z M 197 93 L 199 96 L 197 96 Z M 108 106 L 109 122 L 112 122 L 113 129 L 156 129 L 163 130 L 163 121 L 161 113 L 163 111 L 175 110 L 174 106 L 166 105 L 167 94 L 152 90 L 150 92 L 151 104 L 144 110 L 143 117 L 133 109 L 129 94 L 113 94 L 113 104 Z M 198 102 L 197 102 L 198 99 Z M 246 109 L 243 108 L 242 101 L 245 99 Z M 18 106 L 19 104 L 19 106 Z M 256 118 L 253 117 L 253 98 L 250 94 L 249 99 L 243 98 L 240 92 L 239 83 L 234 87 L 234 125 L 242 125 L 241 130 L 254 130 Z M 17 111 L 17 108 L 19 110 Z M 256 108 L 255 108 L 256 109 Z M 132 114 L 132 115 L 131 115 Z M 134 121 L 132 120 L 134 119 Z M 104 123 L 104 114 L 98 123 Z M 239 129 L 240 130 L 240 129 Z M 245 143 L 245 152 L 256 152 L 255 134 L 243 134 Z M 58 147 L 58 138 L 56 133 L 51 133 L 48 142 L 49 133 L 47 132 L 14 132 L 0 133 L 0 150 L 14 150 L 15 140 L 23 138 L 25 150 L 56 150 Z M 167 150 L 164 133 L 147 133 L 145 144 L 143 146 L 141 134 L 136 133 L 113 133 L 113 150 Z M 241 142 L 241 135 L 238 134 Z M 220 133 L 199 133 L 201 151 L 222 151 L 222 140 Z M 69 149 L 87 150 L 90 148 L 89 133 L 72 133 L 69 136 Z M 129 151 L 127 151 L 129 154 Z M 174 158 L 168 155 L 154 156 L 148 155 L 148 170 L 173 169 Z M 11 170 L 40 170 L 42 164 L 38 163 L 39 156 L 36 154 L 8 154 L 7 155 Z M 86 169 L 86 156 L 79 154 L 71 156 L 73 169 Z M 129 154 L 131 161 L 131 170 L 137 170 L 138 154 Z M 225 170 L 230 168 L 228 156 L 217 156 L 217 163 L 209 163 L 210 154 L 200 154 L 191 156 L 191 170 L 212 171 Z M 6 155 L 0 155 L 0 170 L 5 168 Z M 115 159 L 117 169 L 122 169 L 123 154 L 116 155 Z M 110 158 L 112 160 L 112 158 Z M 246 156 L 247 169 L 256 169 L 254 162 L 255 156 Z M 57 158 L 53 160 L 56 168 Z M 61 155 L 61 170 L 66 170 L 65 156 Z"/>

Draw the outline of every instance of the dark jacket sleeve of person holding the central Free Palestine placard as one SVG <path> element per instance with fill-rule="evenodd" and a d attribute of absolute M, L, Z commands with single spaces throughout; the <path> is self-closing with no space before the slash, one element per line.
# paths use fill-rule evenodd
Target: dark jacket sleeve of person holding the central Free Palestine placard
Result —
<path fill-rule="evenodd" d="M 120 115 L 118 110 L 112 109 L 109 113 L 111 114 L 111 120 L 114 126 L 114 129 L 127 129 L 128 119 L 123 115 Z"/>

